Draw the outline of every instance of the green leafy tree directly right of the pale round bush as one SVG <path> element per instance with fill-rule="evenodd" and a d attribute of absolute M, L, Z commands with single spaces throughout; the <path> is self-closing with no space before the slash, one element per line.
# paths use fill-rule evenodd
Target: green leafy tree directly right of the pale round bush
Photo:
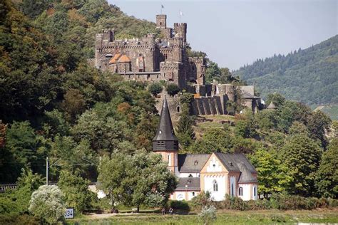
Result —
<path fill-rule="evenodd" d="M 88 189 L 89 181 L 68 171 L 61 171 L 58 187 L 63 192 L 68 207 L 79 213 L 91 206 L 93 194 Z"/>

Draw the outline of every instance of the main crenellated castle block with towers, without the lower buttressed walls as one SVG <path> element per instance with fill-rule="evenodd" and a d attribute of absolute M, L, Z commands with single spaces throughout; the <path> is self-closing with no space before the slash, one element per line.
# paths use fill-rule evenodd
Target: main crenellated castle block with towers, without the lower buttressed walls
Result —
<path fill-rule="evenodd" d="M 205 58 L 188 57 L 187 23 L 167 27 L 167 16 L 156 16 L 160 38 L 116 40 L 113 29 L 96 34 L 95 66 L 119 73 L 125 80 L 165 80 L 185 89 L 187 83 L 205 84 Z"/>

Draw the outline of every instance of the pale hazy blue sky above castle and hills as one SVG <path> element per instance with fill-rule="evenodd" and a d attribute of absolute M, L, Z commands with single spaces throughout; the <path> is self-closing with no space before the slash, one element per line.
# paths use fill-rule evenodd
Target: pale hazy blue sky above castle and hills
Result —
<path fill-rule="evenodd" d="M 274 53 L 307 48 L 336 35 L 338 29 L 338 0 L 108 2 L 130 16 L 154 22 L 163 4 L 167 26 L 188 23 L 190 46 L 230 70 Z"/>

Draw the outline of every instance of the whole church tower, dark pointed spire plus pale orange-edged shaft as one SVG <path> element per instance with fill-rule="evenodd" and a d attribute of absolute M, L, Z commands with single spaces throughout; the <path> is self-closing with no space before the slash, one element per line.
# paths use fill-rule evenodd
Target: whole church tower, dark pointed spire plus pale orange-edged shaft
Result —
<path fill-rule="evenodd" d="M 163 100 L 158 130 L 153 138 L 153 152 L 162 155 L 171 172 L 178 173 L 178 138 L 174 133 L 166 98 Z"/>

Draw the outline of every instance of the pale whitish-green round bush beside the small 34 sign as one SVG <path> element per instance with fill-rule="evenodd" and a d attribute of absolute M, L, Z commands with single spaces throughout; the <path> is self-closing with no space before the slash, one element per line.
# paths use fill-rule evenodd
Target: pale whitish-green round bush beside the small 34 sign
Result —
<path fill-rule="evenodd" d="M 48 224 L 55 224 L 66 211 L 61 190 L 55 185 L 39 187 L 31 194 L 29 211 Z"/>

